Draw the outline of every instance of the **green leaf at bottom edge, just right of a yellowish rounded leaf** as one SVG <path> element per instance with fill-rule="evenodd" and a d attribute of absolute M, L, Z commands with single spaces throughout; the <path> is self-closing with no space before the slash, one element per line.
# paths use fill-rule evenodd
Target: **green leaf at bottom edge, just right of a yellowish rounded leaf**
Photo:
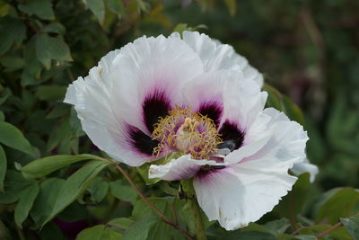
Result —
<path fill-rule="evenodd" d="M 147 216 L 144 218 L 138 219 L 133 223 L 127 231 L 124 233 L 122 240 L 145 240 L 156 222 L 158 222 L 159 217 L 157 216 Z M 160 238 L 159 238 L 160 239 Z M 163 238 L 161 238 L 163 239 Z"/>

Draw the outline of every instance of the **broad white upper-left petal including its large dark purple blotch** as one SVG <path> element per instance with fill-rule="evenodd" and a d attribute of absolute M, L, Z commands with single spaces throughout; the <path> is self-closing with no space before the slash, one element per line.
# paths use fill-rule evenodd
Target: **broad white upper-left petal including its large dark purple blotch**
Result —
<path fill-rule="evenodd" d="M 159 117 L 182 102 L 182 86 L 202 73 L 200 58 L 183 40 L 142 37 L 127 44 L 111 69 L 117 116 L 151 133 Z"/>

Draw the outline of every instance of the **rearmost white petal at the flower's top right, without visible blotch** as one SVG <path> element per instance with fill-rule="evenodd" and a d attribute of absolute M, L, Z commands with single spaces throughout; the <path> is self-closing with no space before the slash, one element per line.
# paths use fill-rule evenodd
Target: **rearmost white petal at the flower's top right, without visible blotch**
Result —
<path fill-rule="evenodd" d="M 180 38 L 180 34 L 172 33 L 171 37 Z M 246 58 L 237 54 L 232 46 L 213 40 L 197 31 L 183 31 L 183 40 L 197 52 L 204 63 L 206 72 L 240 69 L 244 72 L 245 79 L 254 80 L 260 87 L 263 86 L 263 76 L 258 73 L 257 69 L 250 66 Z"/>

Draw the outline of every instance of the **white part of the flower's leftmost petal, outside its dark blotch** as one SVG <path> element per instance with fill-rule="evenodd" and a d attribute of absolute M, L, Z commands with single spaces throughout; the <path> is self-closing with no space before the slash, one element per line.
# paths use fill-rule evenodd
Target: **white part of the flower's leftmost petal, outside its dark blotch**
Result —
<path fill-rule="evenodd" d="M 110 108 L 109 93 L 98 78 L 100 69 L 94 67 L 85 80 L 79 77 L 70 84 L 64 102 L 74 105 L 83 130 L 94 145 L 115 160 L 133 166 L 143 164 L 150 157 L 138 154 L 128 146 L 125 123 L 117 120 Z"/>

